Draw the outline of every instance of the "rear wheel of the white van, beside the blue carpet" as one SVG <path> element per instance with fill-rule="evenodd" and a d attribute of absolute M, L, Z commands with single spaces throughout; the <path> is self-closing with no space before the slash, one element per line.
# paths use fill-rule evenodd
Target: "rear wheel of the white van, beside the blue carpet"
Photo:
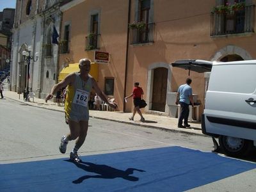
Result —
<path fill-rule="evenodd" d="M 245 156 L 253 147 L 253 143 L 250 140 L 222 135 L 219 138 L 219 143 L 221 149 L 228 156 Z"/>

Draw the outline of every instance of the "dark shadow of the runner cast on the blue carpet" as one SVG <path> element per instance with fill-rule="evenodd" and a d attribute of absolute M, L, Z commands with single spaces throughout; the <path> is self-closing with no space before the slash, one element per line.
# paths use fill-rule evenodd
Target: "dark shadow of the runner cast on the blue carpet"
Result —
<path fill-rule="evenodd" d="M 139 170 L 136 168 L 127 168 L 127 170 L 118 170 L 116 168 L 113 168 L 111 166 L 108 166 L 106 164 L 94 164 L 90 162 L 81 162 L 81 163 L 76 163 L 74 161 L 64 160 L 68 161 L 70 163 L 74 163 L 77 168 L 81 168 L 82 170 L 86 172 L 92 172 L 96 173 L 97 175 L 84 175 L 82 177 L 79 177 L 76 180 L 73 180 L 72 183 L 74 184 L 79 184 L 83 182 L 85 179 L 90 179 L 90 178 L 99 178 L 99 179 L 115 179 L 115 178 L 122 178 L 125 180 L 130 180 L 130 181 L 138 181 L 138 177 L 132 176 L 134 171 L 138 172 L 145 172 L 144 170 Z"/>

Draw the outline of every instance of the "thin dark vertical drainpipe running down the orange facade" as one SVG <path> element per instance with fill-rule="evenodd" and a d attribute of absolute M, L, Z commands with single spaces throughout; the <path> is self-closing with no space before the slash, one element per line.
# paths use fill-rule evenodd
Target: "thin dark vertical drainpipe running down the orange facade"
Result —
<path fill-rule="evenodd" d="M 125 55 L 125 76 L 124 76 L 124 97 L 126 96 L 126 84 L 127 84 L 127 67 L 128 67 L 128 53 L 129 53 L 129 23 L 130 23 L 130 16 L 131 16 L 131 0 L 129 0 L 128 6 L 128 23 L 127 23 L 127 40 L 126 40 L 126 55 Z M 123 100 L 123 112 L 125 112 L 125 101 Z"/>

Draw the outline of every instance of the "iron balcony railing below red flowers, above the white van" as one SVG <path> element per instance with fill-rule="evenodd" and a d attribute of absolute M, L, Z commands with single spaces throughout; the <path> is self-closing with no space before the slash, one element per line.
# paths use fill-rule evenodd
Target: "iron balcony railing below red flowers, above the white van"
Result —
<path fill-rule="evenodd" d="M 211 36 L 254 32 L 255 5 L 242 10 L 211 13 Z"/>

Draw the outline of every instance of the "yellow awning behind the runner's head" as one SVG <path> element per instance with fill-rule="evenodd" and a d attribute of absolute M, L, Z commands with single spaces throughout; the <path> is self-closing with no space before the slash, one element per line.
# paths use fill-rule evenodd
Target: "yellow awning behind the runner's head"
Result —
<path fill-rule="evenodd" d="M 65 79 L 65 77 L 68 74 L 71 74 L 73 72 L 79 72 L 79 63 L 72 63 L 69 64 L 68 67 L 65 67 L 61 70 L 58 81 L 62 81 Z M 91 70 L 90 70 L 90 75 L 94 77 L 96 81 L 98 81 L 98 64 L 97 63 L 92 63 L 91 64 Z"/>

